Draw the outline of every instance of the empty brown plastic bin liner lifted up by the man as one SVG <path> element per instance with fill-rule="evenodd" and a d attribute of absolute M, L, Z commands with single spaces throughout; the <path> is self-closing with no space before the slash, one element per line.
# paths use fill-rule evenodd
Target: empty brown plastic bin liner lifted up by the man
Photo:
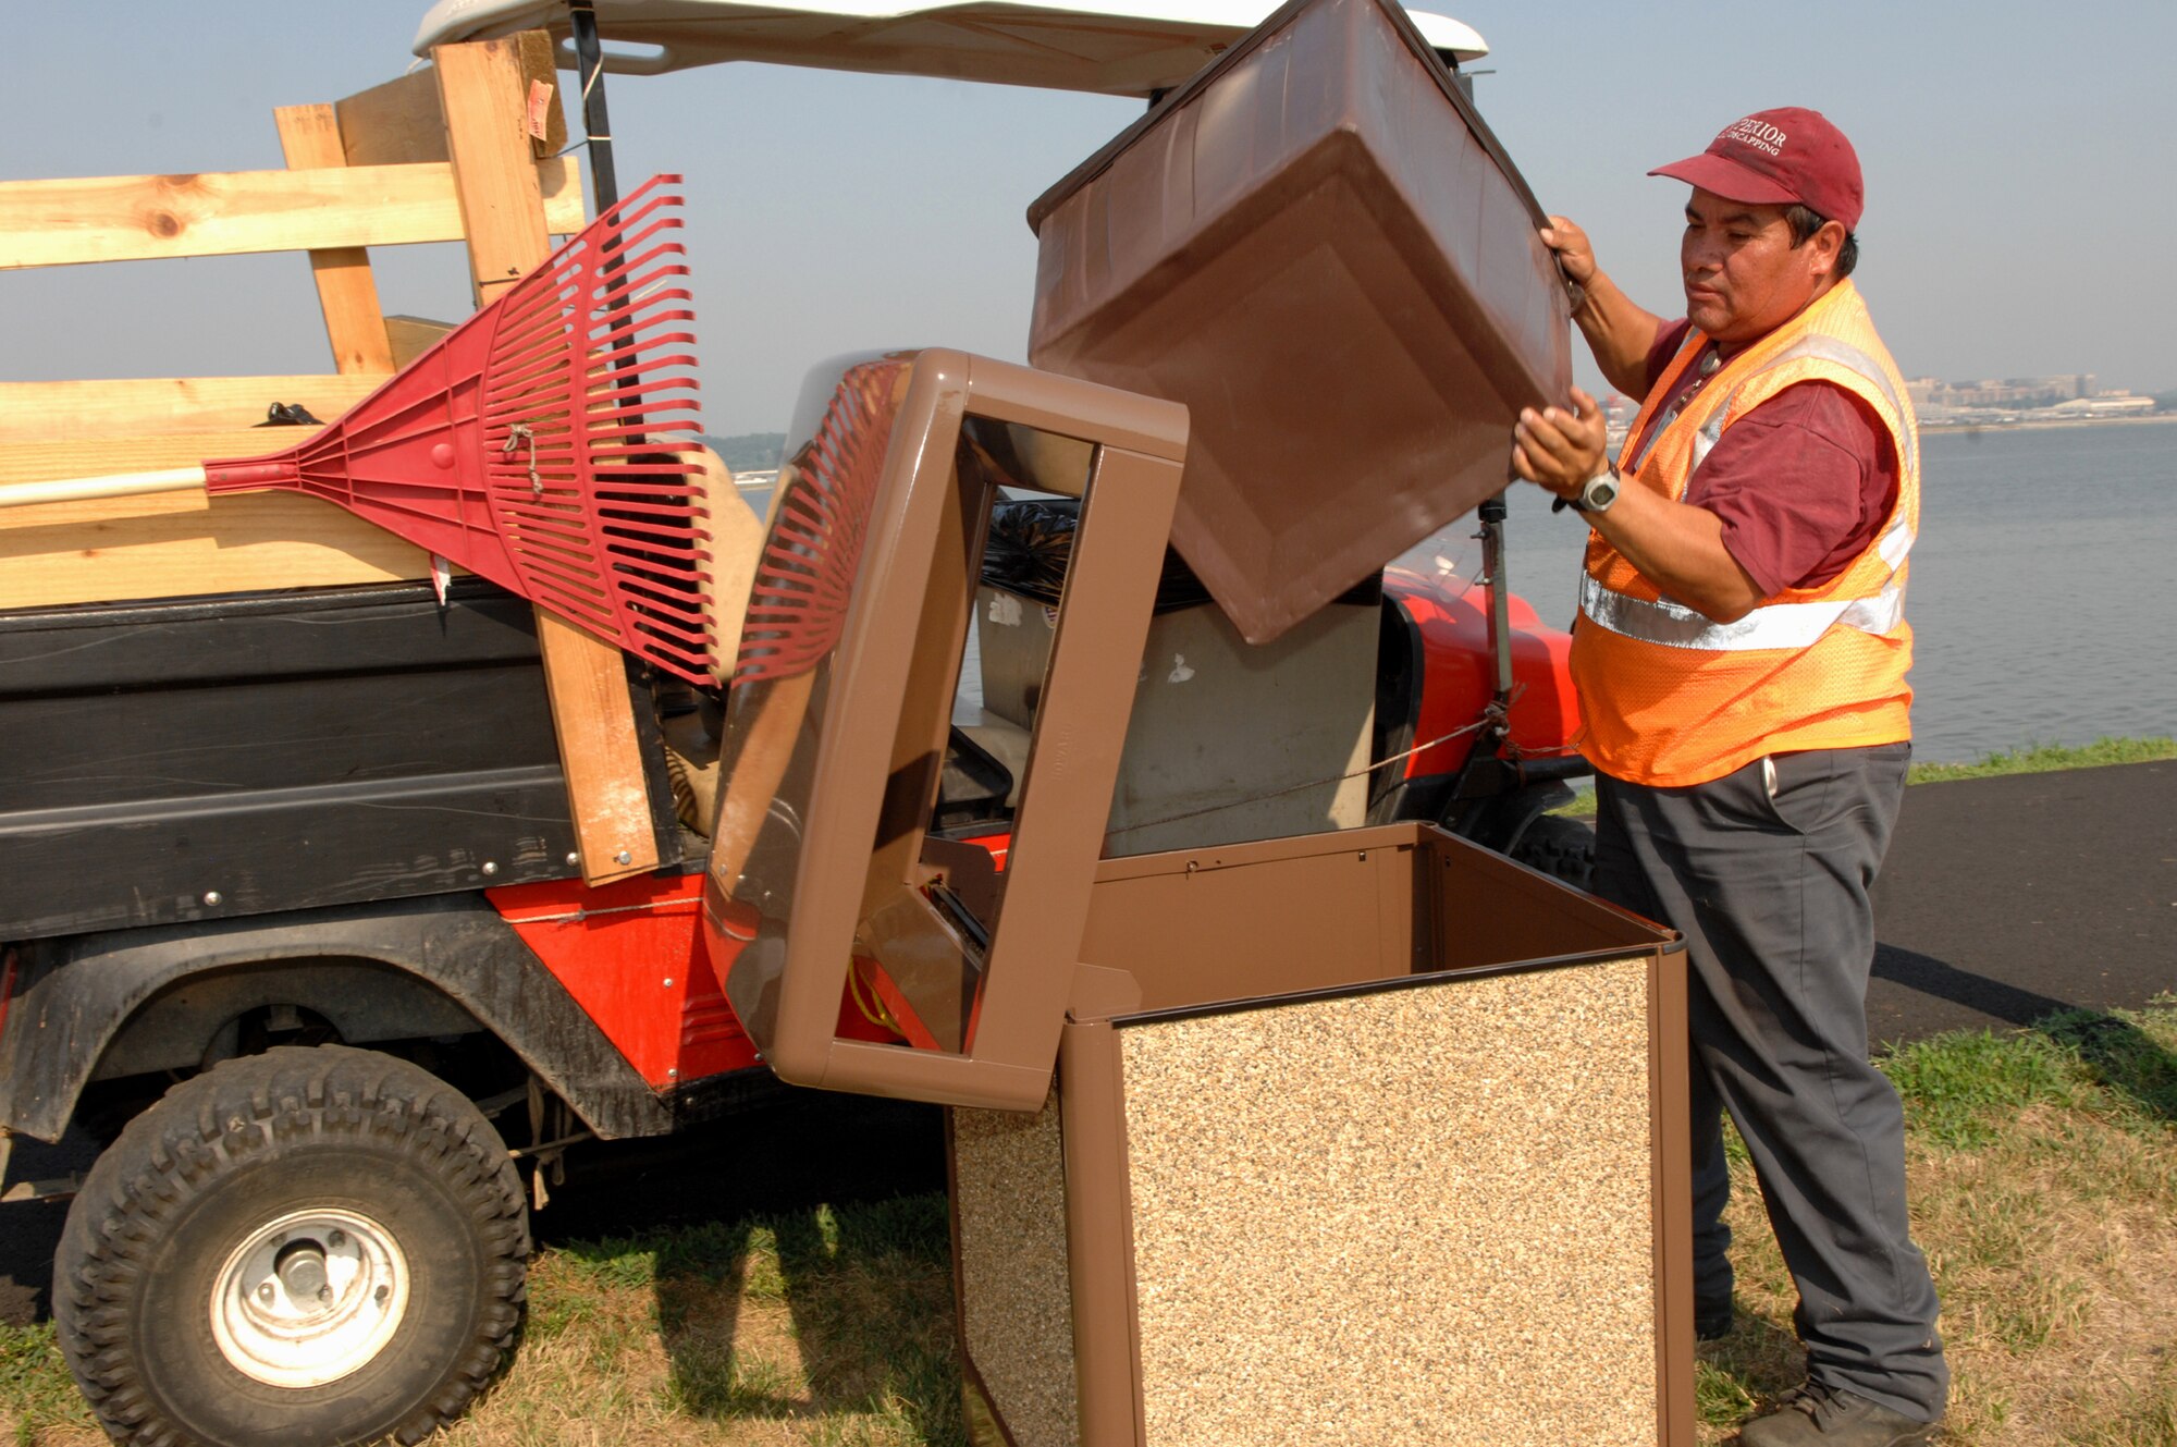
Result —
<path fill-rule="evenodd" d="M 1038 368 L 1186 403 L 1171 540 L 1267 643 L 1563 399 L 1541 209 L 1398 0 L 1269 17 L 1030 207 Z"/>

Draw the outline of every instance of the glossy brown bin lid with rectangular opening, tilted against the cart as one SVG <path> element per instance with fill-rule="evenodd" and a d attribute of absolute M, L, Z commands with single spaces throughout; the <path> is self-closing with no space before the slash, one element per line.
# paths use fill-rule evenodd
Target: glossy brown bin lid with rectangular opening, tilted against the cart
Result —
<path fill-rule="evenodd" d="M 1075 996 L 1186 414 L 943 349 L 816 377 L 727 697 L 712 961 L 784 1081 L 1032 1109 Z M 988 506 L 1017 475 L 999 451 L 1084 497 L 1001 889 L 988 854 L 927 839 Z M 836 1033 L 858 954 L 947 1048 Z"/>

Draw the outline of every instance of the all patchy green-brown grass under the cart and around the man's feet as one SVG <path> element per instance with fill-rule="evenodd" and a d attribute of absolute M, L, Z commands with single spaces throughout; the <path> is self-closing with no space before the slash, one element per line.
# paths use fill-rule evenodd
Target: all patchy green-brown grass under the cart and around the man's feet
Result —
<path fill-rule="evenodd" d="M 1881 1057 L 1944 1301 L 1948 1447 L 2177 1447 L 2177 996 Z M 1731 1142 L 1737 1144 L 1735 1140 Z M 1700 1440 L 1798 1382 L 1792 1284 L 1731 1153 L 1739 1329 Z M 522 1349 L 438 1447 L 964 1447 L 940 1196 L 540 1253 Z M 50 1325 L 0 1327 L 0 1443 L 96 1447 Z"/>

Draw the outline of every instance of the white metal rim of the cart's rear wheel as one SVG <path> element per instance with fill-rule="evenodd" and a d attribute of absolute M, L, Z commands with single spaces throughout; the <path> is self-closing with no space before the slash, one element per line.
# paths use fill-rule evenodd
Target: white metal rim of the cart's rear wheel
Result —
<path fill-rule="evenodd" d="M 385 1349 L 407 1294 L 407 1257 L 377 1220 L 335 1207 L 287 1212 L 226 1255 L 211 1338 L 255 1382 L 324 1386 Z"/>

